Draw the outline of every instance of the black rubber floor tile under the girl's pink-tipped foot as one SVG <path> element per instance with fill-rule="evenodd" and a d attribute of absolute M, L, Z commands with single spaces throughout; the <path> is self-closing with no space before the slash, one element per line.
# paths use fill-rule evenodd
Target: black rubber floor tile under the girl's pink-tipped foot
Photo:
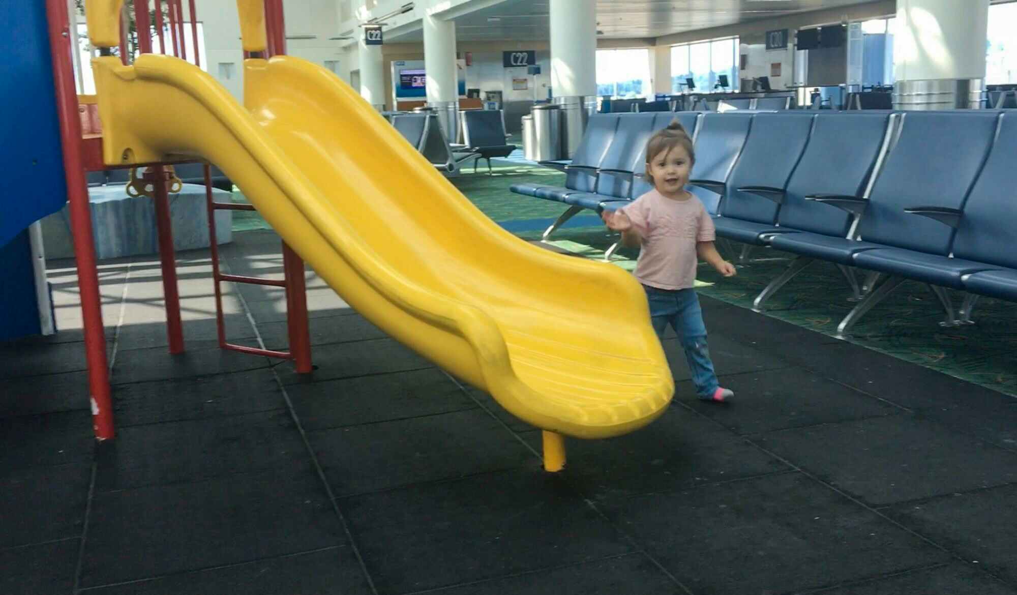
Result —
<path fill-rule="evenodd" d="M 682 403 L 741 434 L 903 411 L 802 368 L 722 376 L 720 383 L 734 391 L 733 404 L 718 406 L 700 401 L 696 386 L 689 380 L 678 382 L 675 394 Z"/>

